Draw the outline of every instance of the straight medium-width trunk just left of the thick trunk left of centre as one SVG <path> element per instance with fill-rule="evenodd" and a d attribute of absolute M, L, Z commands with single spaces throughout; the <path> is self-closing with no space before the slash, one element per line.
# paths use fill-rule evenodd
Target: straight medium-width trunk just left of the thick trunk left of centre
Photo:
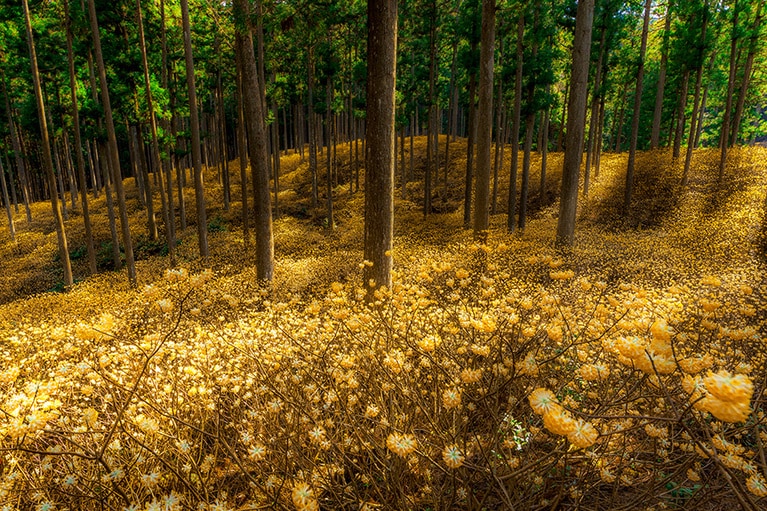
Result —
<path fill-rule="evenodd" d="M 200 119 L 197 114 L 197 90 L 194 83 L 194 58 L 192 57 L 192 34 L 189 24 L 188 0 L 181 0 L 181 21 L 184 29 L 186 88 L 189 94 L 189 122 L 192 125 L 192 165 L 194 166 L 194 194 L 197 206 L 197 239 L 200 245 L 200 257 L 207 259 L 208 220 L 205 214 L 205 190 L 203 188 L 202 161 L 200 154 Z"/>

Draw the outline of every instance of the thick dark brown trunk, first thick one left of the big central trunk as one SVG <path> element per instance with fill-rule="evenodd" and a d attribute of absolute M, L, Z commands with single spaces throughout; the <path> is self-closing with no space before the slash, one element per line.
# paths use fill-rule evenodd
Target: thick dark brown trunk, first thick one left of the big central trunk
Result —
<path fill-rule="evenodd" d="M 237 20 L 236 37 L 241 39 L 242 88 L 245 121 L 248 127 L 248 150 L 255 196 L 256 268 L 259 281 L 271 282 L 274 276 L 274 238 L 272 235 L 272 204 L 269 193 L 269 163 L 266 150 L 266 127 L 258 83 L 256 59 L 253 53 L 253 34 L 248 25 L 248 1 L 235 0 Z"/>

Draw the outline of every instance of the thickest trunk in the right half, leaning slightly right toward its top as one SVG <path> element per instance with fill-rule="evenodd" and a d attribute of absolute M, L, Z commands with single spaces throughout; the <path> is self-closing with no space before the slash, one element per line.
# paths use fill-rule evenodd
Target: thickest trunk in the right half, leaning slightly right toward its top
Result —
<path fill-rule="evenodd" d="M 578 207 L 578 178 L 583 158 L 583 127 L 586 121 L 591 25 L 594 21 L 594 0 L 578 2 L 573 41 L 573 66 L 570 103 L 567 106 L 567 139 L 562 169 L 562 190 L 559 201 L 556 244 L 572 246 L 575 240 L 575 217 Z"/>

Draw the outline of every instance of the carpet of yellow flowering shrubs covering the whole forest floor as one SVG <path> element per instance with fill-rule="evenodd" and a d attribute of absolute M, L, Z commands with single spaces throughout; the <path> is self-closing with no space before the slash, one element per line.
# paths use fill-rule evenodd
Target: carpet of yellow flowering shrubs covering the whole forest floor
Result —
<path fill-rule="evenodd" d="M 416 159 L 372 306 L 350 162 L 330 232 L 306 163 L 283 158 L 271 289 L 214 169 L 213 257 L 195 259 L 192 226 L 177 268 L 139 261 L 137 290 L 105 272 L 20 297 L 56 285 L 35 205 L 16 244 L 0 227 L 0 509 L 764 509 L 766 158 L 734 151 L 717 186 L 716 154 L 696 152 L 681 189 L 666 153 L 642 154 L 625 218 L 626 157 L 604 155 L 568 251 L 536 191 L 523 233 L 498 215 L 476 245 L 458 156 L 447 213 L 424 220 Z"/>

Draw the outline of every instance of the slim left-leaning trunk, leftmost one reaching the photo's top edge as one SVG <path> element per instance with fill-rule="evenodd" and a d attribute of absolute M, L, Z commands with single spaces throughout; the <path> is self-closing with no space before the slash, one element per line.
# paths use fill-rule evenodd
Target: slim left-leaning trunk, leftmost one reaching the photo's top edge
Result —
<path fill-rule="evenodd" d="M 67 235 L 64 230 L 64 219 L 59 209 L 59 200 L 56 196 L 56 180 L 53 176 L 53 159 L 51 158 L 51 146 L 48 140 L 48 122 L 45 115 L 45 104 L 43 103 L 43 90 L 40 84 L 40 73 L 37 69 L 37 53 L 35 52 L 35 42 L 32 38 L 32 21 L 29 15 L 29 5 L 27 0 L 22 0 L 24 8 L 24 20 L 27 28 L 27 43 L 29 45 L 29 59 L 32 68 L 32 81 L 35 88 L 35 99 L 37 100 L 37 118 L 40 122 L 40 137 L 43 151 L 43 169 L 48 180 L 48 187 L 51 192 L 51 208 L 53 209 L 53 219 L 56 225 L 56 237 L 59 245 L 59 258 L 64 270 L 64 286 L 72 286 L 72 265 L 69 261 L 69 248 L 67 247 Z"/>

